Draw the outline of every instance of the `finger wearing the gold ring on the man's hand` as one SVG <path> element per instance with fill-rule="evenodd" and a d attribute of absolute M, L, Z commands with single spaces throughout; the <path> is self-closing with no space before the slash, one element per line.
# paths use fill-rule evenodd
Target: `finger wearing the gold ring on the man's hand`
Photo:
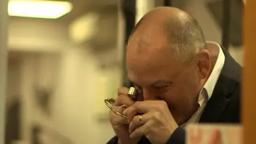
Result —
<path fill-rule="evenodd" d="M 141 116 L 141 121 L 140 121 L 140 116 Z M 148 119 L 149 119 L 148 114 L 134 116 L 132 121 L 129 124 L 129 132 L 132 133 L 135 129 L 137 129 L 137 127 L 140 127 L 141 125 L 146 124 Z"/>

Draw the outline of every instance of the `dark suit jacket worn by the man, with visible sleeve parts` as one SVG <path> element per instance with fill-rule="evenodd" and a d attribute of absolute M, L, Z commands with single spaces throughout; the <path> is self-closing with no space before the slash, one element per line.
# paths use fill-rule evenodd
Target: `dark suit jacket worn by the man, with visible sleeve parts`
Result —
<path fill-rule="evenodd" d="M 199 123 L 240 123 L 242 68 L 225 48 L 222 47 L 222 51 L 225 54 L 225 63 Z M 118 138 L 114 137 L 108 144 L 116 144 L 117 140 Z M 150 141 L 142 137 L 139 143 L 146 144 Z M 185 144 L 185 130 L 178 127 L 167 144 Z"/>

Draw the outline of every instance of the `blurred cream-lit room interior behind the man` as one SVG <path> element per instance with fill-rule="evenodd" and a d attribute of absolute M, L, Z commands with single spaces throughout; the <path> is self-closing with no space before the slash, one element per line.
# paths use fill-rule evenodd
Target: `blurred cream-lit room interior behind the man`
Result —
<path fill-rule="evenodd" d="M 193 15 L 206 40 L 228 45 L 242 64 L 241 1 L 231 1 L 226 9 L 236 17 L 225 18 L 224 29 L 221 0 L 170 4 Z M 39 2 L 9 1 L 5 143 L 106 143 L 115 134 L 103 100 L 115 98 L 126 81 L 129 22 L 166 2 Z"/>

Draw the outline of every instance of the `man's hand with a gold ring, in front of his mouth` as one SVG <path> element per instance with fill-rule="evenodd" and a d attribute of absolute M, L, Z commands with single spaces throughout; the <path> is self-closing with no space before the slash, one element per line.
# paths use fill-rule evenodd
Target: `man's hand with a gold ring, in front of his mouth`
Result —
<path fill-rule="evenodd" d="M 129 132 L 132 139 L 145 135 L 151 143 L 166 143 L 178 127 L 167 103 L 162 100 L 137 101 L 123 114 L 131 121 Z"/>

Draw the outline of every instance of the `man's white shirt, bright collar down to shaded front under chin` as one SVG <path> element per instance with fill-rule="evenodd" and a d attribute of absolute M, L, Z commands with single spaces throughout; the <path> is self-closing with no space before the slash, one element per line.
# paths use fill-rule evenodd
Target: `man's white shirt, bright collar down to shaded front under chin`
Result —
<path fill-rule="evenodd" d="M 197 109 L 195 114 L 193 116 L 191 116 L 191 118 L 186 123 L 181 125 L 182 127 L 185 127 L 188 123 L 198 123 L 199 122 L 199 119 L 202 116 L 202 113 L 204 111 L 207 101 L 212 97 L 214 87 L 218 81 L 221 70 L 224 66 L 225 55 L 224 55 L 220 45 L 215 42 L 206 42 L 206 44 L 209 44 L 209 46 L 219 47 L 219 55 L 218 55 L 215 65 L 213 67 L 211 75 L 205 82 L 202 90 L 200 91 L 200 93 L 198 95 L 199 108 Z"/>

